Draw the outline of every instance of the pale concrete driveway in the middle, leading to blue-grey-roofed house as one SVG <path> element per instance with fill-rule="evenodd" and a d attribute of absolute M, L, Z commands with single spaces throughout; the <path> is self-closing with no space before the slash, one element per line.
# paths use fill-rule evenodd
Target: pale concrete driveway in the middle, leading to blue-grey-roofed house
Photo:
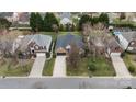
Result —
<path fill-rule="evenodd" d="M 57 56 L 53 77 L 66 77 L 66 56 Z"/>

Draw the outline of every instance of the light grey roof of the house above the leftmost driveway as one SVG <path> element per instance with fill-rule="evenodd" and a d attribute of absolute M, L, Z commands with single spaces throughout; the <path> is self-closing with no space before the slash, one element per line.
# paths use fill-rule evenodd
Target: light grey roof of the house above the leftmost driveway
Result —
<path fill-rule="evenodd" d="M 42 35 L 42 34 L 26 35 L 22 39 L 21 49 L 25 49 L 31 42 L 35 42 L 38 46 L 46 46 L 47 52 L 49 52 L 52 37 L 49 35 Z"/>

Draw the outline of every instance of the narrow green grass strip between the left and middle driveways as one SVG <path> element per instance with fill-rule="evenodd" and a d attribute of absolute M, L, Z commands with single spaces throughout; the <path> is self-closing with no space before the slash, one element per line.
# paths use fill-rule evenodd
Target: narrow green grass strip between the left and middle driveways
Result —
<path fill-rule="evenodd" d="M 55 58 L 52 58 L 50 60 L 46 60 L 43 69 L 43 76 L 53 76 L 54 64 L 55 64 Z"/>

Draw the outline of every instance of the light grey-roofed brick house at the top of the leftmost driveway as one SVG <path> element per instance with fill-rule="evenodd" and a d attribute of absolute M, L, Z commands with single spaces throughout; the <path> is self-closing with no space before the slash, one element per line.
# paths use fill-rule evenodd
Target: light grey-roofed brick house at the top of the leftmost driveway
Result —
<path fill-rule="evenodd" d="M 39 53 L 49 53 L 50 46 L 52 37 L 49 35 L 35 34 L 24 36 L 16 49 L 25 55 L 37 55 Z"/>

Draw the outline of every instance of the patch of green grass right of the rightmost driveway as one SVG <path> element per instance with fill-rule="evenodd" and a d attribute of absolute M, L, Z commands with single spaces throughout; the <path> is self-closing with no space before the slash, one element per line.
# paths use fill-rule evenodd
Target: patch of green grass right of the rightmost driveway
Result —
<path fill-rule="evenodd" d="M 129 53 L 125 53 L 125 56 L 123 57 L 123 60 L 126 65 L 127 68 L 129 68 L 131 66 L 135 69 L 134 72 L 131 72 L 133 76 L 136 76 L 136 55 L 134 54 L 129 54 Z"/>

